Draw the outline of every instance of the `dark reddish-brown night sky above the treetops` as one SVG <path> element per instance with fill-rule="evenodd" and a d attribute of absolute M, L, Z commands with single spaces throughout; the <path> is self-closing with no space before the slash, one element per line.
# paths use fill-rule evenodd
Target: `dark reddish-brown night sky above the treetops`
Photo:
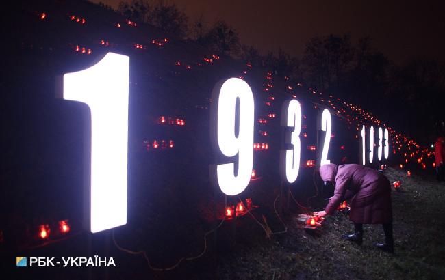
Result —
<path fill-rule="evenodd" d="M 95 0 L 117 8 L 120 0 Z M 262 54 L 284 51 L 301 57 L 314 36 L 350 32 L 353 42 L 364 36 L 396 64 L 413 57 L 445 61 L 445 1 L 203 1 L 170 0 L 189 21 L 203 14 L 207 25 L 223 19 Z M 157 1 L 153 1 L 157 3 Z M 273 4 L 277 3 L 277 4 Z"/>

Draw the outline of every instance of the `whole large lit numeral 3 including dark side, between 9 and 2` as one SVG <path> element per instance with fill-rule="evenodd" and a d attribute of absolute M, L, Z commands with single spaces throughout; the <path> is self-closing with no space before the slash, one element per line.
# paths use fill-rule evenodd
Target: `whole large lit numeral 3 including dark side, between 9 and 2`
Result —
<path fill-rule="evenodd" d="M 301 105 L 297 100 L 290 100 L 283 104 L 281 110 L 281 125 L 292 129 L 290 135 L 286 133 L 285 143 L 292 145 L 292 149 L 281 152 L 280 169 L 283 180 L 290 184 L 295 182 L 300 169 L 300 131 L 301 131 Z M 290 141 L 289 141 L 290 140 Z"/>

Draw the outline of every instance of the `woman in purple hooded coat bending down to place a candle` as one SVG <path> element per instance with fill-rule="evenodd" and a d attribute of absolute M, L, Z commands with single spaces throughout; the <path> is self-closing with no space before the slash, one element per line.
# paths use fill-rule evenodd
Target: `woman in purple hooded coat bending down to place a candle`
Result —
<path fill-rule="evenodd" d="M 325 211 L 316 212 L 316 214 L 318 216 L 331 215 L 342 201 L 352 197 L 349 219 L 355 225 L 355 232 L 345 234 L 343 237 L 361 245 L 363 224 L 382 224 L 385 243 L 375 245 L 383 251 L 393 253 L 390 181 L 379 171 L 356 164 L 322 165 L 320 177 L 325 184 L 333 182 L 335 191 Z"/>

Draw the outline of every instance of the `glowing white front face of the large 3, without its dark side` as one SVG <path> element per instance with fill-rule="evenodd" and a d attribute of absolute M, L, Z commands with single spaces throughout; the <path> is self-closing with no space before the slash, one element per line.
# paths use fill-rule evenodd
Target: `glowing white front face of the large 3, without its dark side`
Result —
<path fill-rule="evenodd" d="M 295 182 L 300 169 L 300 131 L 301 131 L 301 105 L 297 100 L 290 100 L 288 106 L 287 126 L 294 128 L 290 134 L 290 143 L 293 148 L 285 152 L 285 176 L 289 183 Z"/>

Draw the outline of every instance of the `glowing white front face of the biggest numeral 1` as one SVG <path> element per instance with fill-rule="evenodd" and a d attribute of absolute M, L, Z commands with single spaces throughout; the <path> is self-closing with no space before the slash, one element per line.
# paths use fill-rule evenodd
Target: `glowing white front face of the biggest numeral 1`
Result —
<path fill-rule="evenodd" d="M 91 111 L 91 232 L 127 223 L 128 91 L 129 57 L 116 53 L 63 77 L 63 98 Z"/>

